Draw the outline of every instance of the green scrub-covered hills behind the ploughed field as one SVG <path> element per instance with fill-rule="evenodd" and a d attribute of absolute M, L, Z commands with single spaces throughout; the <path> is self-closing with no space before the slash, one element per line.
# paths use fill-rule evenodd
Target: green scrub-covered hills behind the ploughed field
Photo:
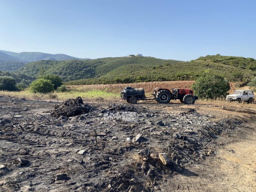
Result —
<path fill-rule="evenodd" d="M 148 81 L 195 80 L 205 71 L 221 74 L 231 82 L 248 83 L 256 75 L 253 58 L 208 55 L 189 62 L 154 57 L 109 57 L 89 61 L 37 61 L 27 63 L 18 72 L 36 76 L 61 75 L 67 84 L 111 84 Z"/>

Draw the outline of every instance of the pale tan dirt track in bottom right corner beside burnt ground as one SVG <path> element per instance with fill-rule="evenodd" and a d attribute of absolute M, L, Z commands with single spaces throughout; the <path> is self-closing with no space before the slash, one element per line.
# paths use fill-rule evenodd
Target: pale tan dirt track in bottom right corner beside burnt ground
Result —
<path fill-rule="evenodd" d="M 170 191 L 184 192 L 255 192 L 256 140 L 224 145 L 216 155 L 189 169 L 194 175 L 178 174 L 167 182 Z"/>

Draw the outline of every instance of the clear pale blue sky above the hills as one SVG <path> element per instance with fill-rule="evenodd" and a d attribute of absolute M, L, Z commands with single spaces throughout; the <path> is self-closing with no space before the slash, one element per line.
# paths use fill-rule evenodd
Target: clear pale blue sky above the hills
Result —
<path fill-rule="evenodd" d="M 0 49 L 102 58 L 256 58 L 255 0 L 0 0 Z"/>

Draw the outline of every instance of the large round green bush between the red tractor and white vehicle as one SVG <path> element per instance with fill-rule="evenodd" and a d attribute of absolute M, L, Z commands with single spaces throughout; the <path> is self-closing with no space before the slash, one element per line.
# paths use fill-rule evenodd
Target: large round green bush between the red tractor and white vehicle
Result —
<path fill-rule="evenodd" d="M 202 99 L 216 99 L 226 97 L 230 85 L 224 77 L 206 73 L 196 80 L 191 89 Z"/>

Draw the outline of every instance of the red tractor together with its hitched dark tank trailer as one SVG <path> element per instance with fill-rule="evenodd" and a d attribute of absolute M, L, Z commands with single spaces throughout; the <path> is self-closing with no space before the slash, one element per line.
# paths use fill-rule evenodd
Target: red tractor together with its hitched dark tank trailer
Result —
<path fill-rule="evenodd" d="M 169 103 L 171 99 L 179 99 L 185 104 L 194 104 L 198 99 L 194 96 L 191 89 L 173 88 L 171 91 L 165 88 L 156 88 L 152 94 L 154 97 L 147 98 L 143 88 L 125 87 L 120 93 L 120 99 L 126 100 L 128 103 L 137 103 L 138 100 L 156 100 L 158 103 Z"/>

